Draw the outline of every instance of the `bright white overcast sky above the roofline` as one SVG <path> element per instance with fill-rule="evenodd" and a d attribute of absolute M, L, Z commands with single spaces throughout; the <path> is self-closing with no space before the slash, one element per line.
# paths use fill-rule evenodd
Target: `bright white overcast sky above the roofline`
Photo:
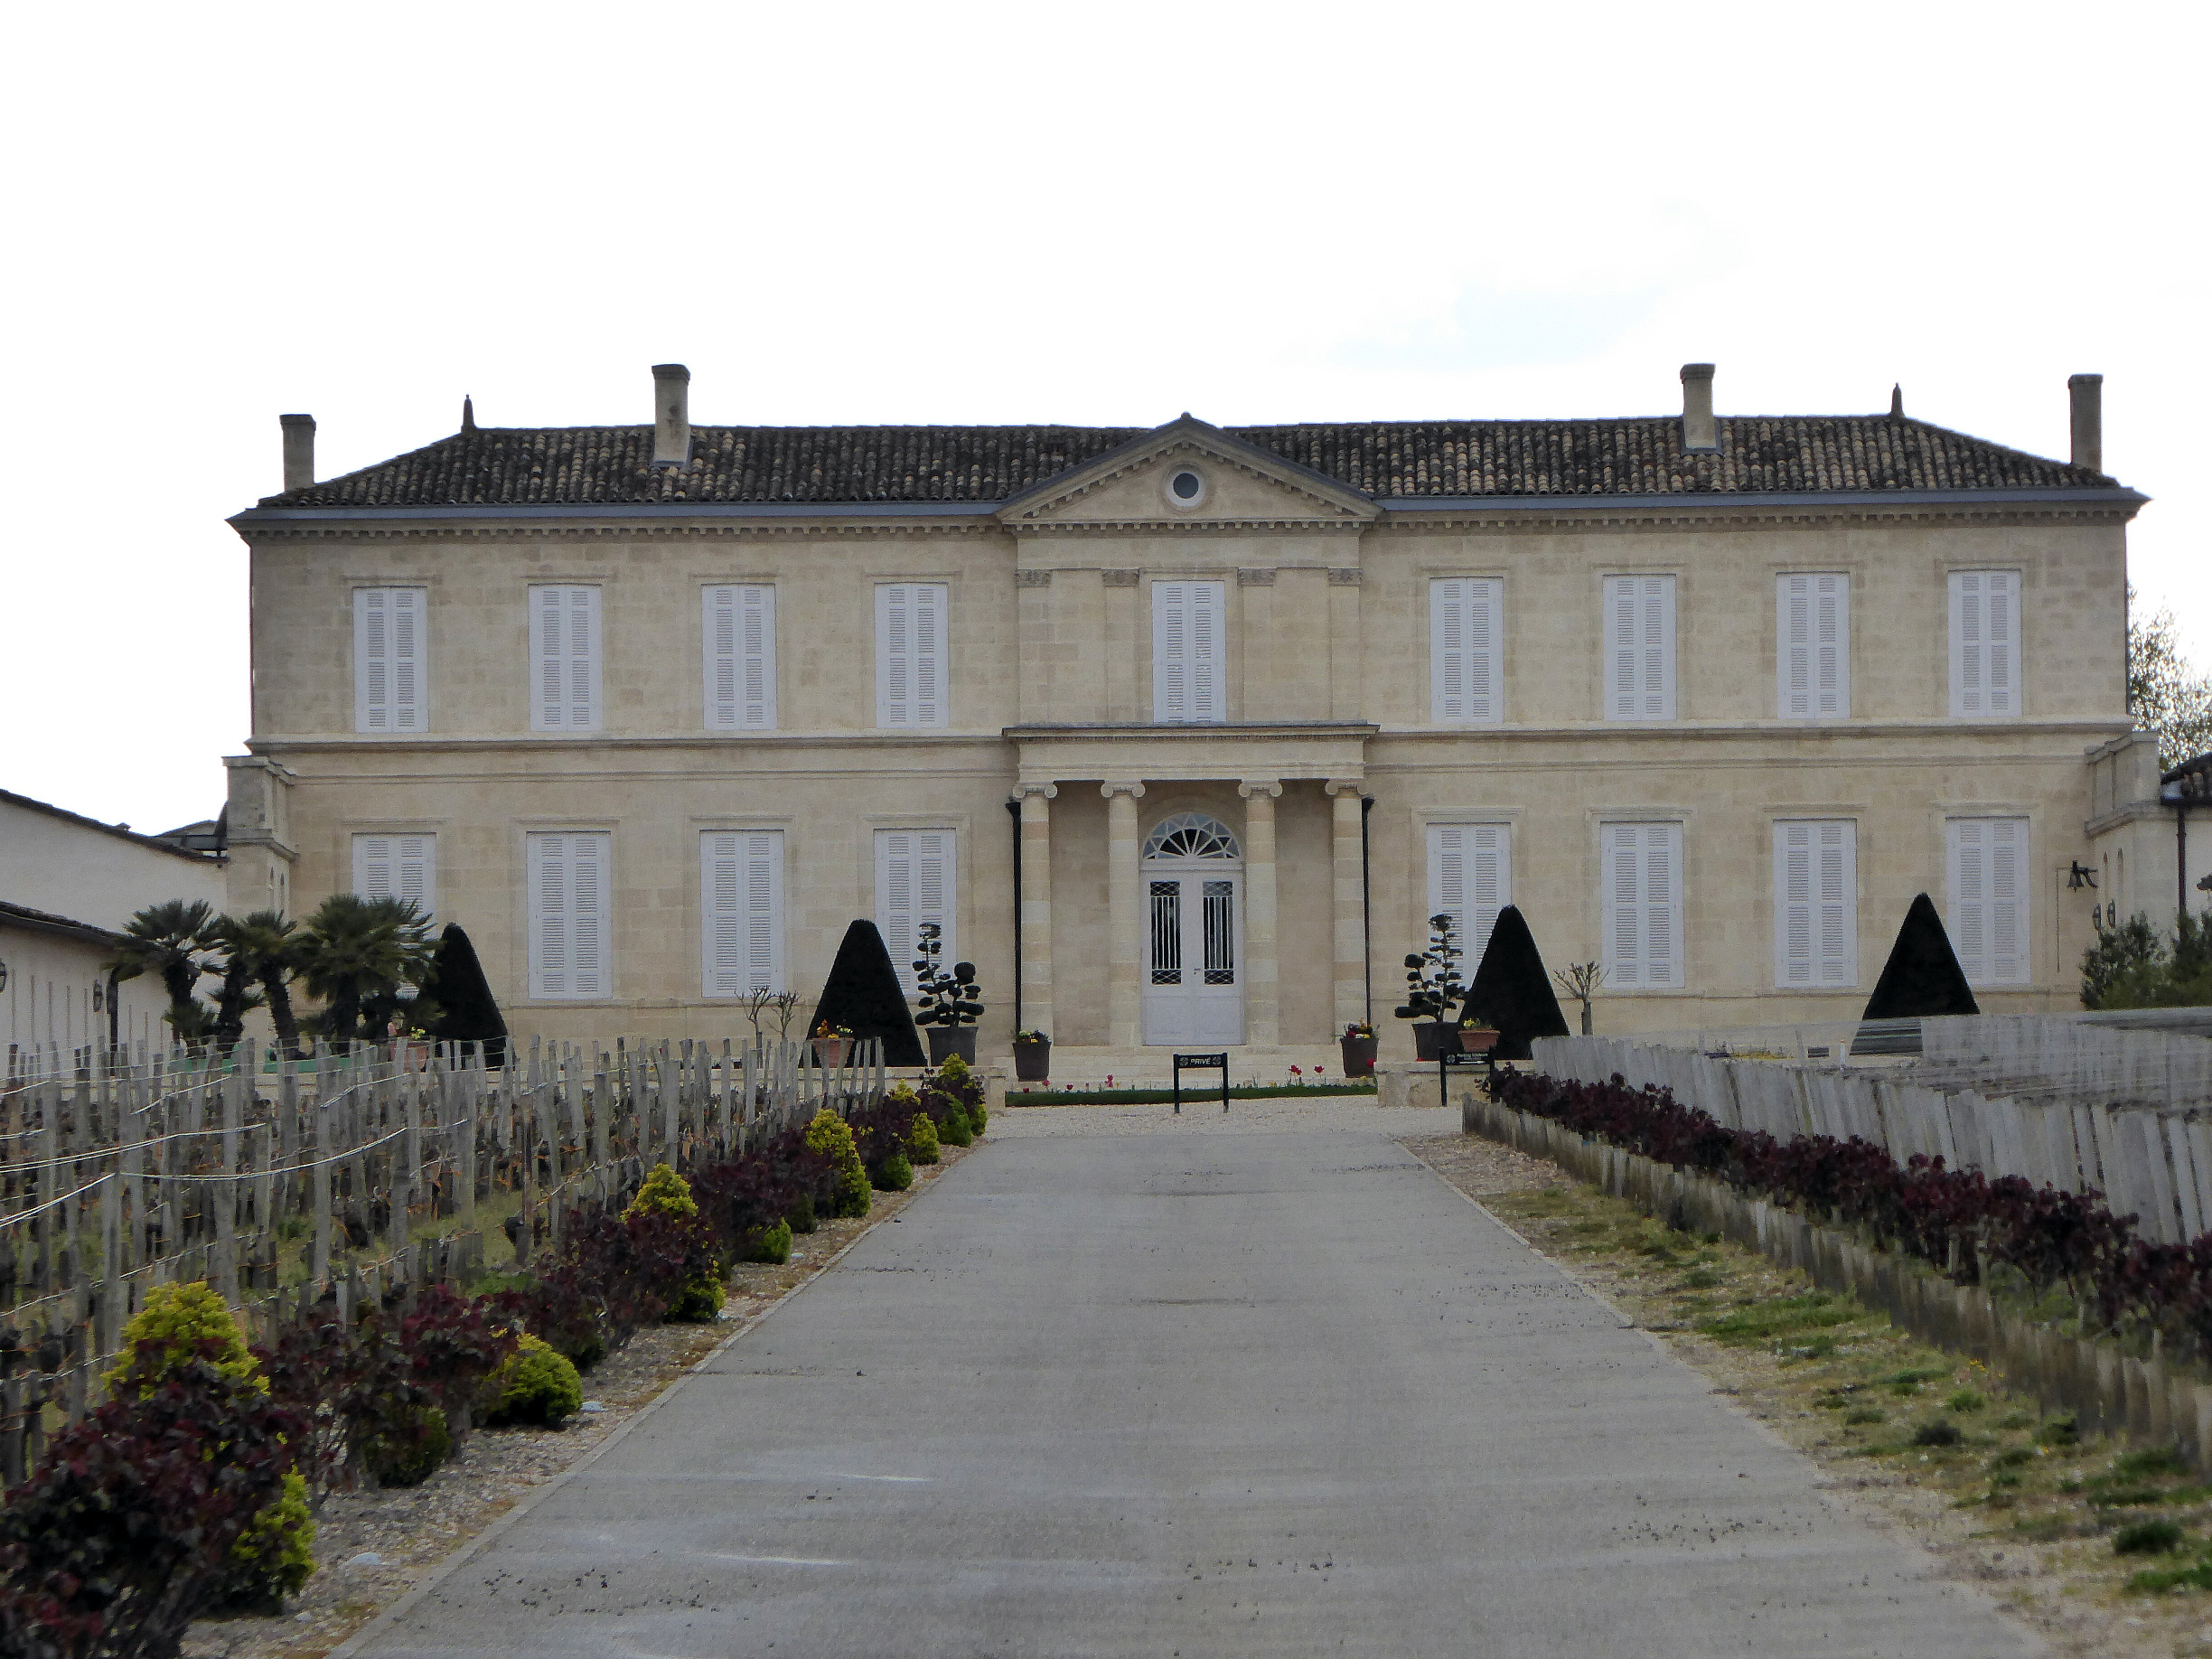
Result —
<path fill-rule="evenodd" d="M 2205 7 L 18 7 L 0 787 L 248 737 L 276 416 L 456 429 L 1889 405 L 2154 498 L 2212 666 Z"/>

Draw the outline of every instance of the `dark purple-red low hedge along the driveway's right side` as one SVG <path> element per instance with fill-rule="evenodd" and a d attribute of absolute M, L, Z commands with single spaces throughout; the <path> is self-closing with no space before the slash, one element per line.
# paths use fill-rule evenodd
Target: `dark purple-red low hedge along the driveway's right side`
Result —
<path fill-rule="evenodd" d="M 2035 1296 L 2064 1287 L 2081 1336 L 2154 1334 L 2183 1360 L 2212 1358 L 2212 1234 L 2154 1243 L 2137 1232 L 2132 1214 L 2112 1214 L 2095 1188 L 2062 1192 L 2017 1175 L 1991 1181 L 1924 1155 L 1900 1166 L 1856 1135 L 1776 1141 L 1725 1128 L 1666 1088 L 1630 1088 L 1619 1073 L 1606 1084 L 1579 1084 L 1502 1071 L 1491 1097 L 1659 1164 L 1865 1228 L 1876 1248 L 1929 1261 L 1962 1285 L 2006 1267 Z"/>

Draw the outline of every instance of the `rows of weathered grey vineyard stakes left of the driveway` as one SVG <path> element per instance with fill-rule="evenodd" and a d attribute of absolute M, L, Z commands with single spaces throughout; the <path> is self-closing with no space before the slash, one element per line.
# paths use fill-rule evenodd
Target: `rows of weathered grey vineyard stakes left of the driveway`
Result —
<path fill-rule="evenodd" d="M 743 1152 L 823 1106 L 883 1099 L 883 1044 L 533 1037 L 316 1044 L 301 1062 L 13 1051 L 0 1084 L 0 1484 L 102 1398 L 153 1285 L 204 1279 L 274 1340 L 323 1301 L 343 1318 L 484 1267 L 480 1201 L 515 1194 L 529 1261 L 586 1203 L 626 1203 L 655 1164 Z M 440 1230 L 416 1237 L 418 1230 Z"/>

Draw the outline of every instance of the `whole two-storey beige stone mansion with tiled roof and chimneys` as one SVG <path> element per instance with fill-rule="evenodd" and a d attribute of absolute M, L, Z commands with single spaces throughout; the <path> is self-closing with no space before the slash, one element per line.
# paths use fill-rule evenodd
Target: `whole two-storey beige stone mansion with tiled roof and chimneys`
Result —
<path fill-rule="evenodd" d="M 1394 1053 L 1440 911 L 1471 969 L 1520 905 L 1630 1031 L 1851 1015 L 1920 891 L 1986 1009 L 2070 1006 L 2093 905 L 2172 887 L 2097 376 L 2044 460 L 1717 416 L 1710 365 L 1232 429 L 706 427 L 653 374 L 650 425 L 465 409 L 332 480 L 283 418 L 232 907 L 409 894 L 555 1035 L 741 1031 L 938 922 L 984 1053 L 1088 1075 Z"/>

